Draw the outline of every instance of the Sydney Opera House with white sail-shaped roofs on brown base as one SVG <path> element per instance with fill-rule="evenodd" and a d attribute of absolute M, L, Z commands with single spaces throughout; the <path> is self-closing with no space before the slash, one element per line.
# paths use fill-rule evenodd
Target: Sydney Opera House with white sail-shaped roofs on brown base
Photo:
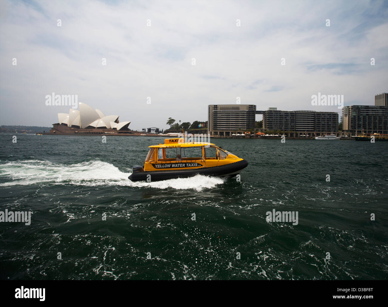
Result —
<path fill-rule="evenodd" d="M 58 123 L 53 124 L 49 134 L 128 134 L 130 121 L 119 122 L 118 115 L 105 116 L 99 109 L 79 103 L 80 110 L 70 109 L 58 113 Z"/>

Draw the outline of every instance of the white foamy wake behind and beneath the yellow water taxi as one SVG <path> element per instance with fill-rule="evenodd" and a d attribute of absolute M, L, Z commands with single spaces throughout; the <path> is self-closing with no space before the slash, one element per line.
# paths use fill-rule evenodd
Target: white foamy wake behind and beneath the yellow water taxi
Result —
<path fill-rule="evenodd" d="M 213 188 L 225 179 L 196 175 L 191 178 L 177 178 L 158 182 L 132 182 L 131 173 L 121 172 L 111 163 L 98 159 L 71 165 L 55 164 L 49 161 L 24 160 L 0 164 L 0 178 L 8 182 L 0 186 L 28 186 L 34 184 L 73 184 L 82 186 L 133 186 L 158 189 Z"/>

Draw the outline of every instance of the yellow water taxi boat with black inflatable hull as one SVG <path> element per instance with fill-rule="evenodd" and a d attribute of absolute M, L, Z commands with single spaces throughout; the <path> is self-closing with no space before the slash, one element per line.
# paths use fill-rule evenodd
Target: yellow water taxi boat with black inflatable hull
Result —
<path fill-rule="evenodd" d="M 133 166 L 128 179 L 151 182 L 197 174 L 234 177 L 248 166 L 246 160 L 208 142 L 174 138 L 148 147 L 144 165 Z"/>

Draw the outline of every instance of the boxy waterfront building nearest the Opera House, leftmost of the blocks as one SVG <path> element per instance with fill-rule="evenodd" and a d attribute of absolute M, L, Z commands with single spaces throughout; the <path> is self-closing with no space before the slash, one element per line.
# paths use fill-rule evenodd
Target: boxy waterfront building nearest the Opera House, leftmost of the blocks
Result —
<path fill-rule="evenodd" d="M 208 106 L 208 134 L 230 136 L 234 131 L 254 131 L 254 104 L 210 104 Z"/>

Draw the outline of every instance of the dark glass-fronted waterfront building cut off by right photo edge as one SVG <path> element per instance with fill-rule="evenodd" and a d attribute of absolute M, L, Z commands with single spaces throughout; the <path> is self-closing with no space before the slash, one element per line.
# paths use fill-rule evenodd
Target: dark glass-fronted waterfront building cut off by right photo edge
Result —
<path fill-rule="evenodd" d="M 375 96 L 375 103 L 377 96 L 379 95 Z M 342 112 L 342 130 L 349 136 L 362 133 L 388 134 L 387 105 L 345 106 Z"/>

